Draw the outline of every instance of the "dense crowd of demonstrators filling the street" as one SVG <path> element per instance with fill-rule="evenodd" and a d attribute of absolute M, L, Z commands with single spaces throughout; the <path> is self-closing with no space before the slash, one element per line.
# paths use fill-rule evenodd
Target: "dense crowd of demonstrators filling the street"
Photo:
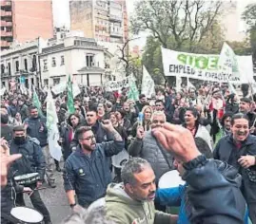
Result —
<path fill-rule="evenodd" d="M 2 223 L 17 223 L 10 211 L 25 206 L 24 193 L 51 223 L 38 189 L 55 188 L 57 171 L 73 211 L 105 197 L 104 211 L 64 223 L 256 224 L 256 105 L 248 92 L 167 85 L 133 101 L 128 88 L 93 86 L 73 99 L 71 114 L 67 93 L 55 95 L 64 165 L 50 155 L 47 94 L 37 94 L 41 108 L 19 90 L 1 97 L 2 156 L 22 155 L 1 187 Z M 160 189 L 159 179 L 175 169 L 186 183 Z M 172 206 L 178 215 L 167 213 Z"/>

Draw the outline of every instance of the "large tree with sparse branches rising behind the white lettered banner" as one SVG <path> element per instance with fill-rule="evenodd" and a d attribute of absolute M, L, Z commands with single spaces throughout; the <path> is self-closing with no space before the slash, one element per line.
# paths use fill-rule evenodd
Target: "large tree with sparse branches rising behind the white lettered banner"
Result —
<path fill-rule="evenodd" d="M 220 1 L 148 1 L 137 3 L 131 18 L 131 30 L 138 34 L 149 30 L 143 64 L 157 84 L 165 77 L 161 46 L 194 53 L 219 53 L 223 31 L 218 22 Z M 169 77 L 165 77 L 169 80 Z"/>

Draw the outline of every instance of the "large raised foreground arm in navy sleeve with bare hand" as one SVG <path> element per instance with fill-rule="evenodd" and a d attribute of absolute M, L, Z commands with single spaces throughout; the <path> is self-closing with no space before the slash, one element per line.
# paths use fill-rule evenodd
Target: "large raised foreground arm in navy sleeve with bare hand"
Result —
<path fill-rule="evenodd" d="M 214 160 L 199 152 L 189 130 L 166 123 L 164 128 L 155 128 L 152 133 L 168 152 L 184 162 L 183 179 L 191 186 L 187 193 L 193 210 L 189 217 L 191 223 L 244 223 L 233 191 L 238 186 L 223 177 Z"/>

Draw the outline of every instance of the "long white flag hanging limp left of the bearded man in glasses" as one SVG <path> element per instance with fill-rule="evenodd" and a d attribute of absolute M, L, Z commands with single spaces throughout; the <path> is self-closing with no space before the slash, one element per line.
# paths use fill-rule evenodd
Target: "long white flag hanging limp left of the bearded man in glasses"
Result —
<path fill-rule="evenodd" d="M 52 99 L 51 92 L 48 91 L 47 127 L 48 127 L 49 153 L 53 159 L 60 161 L 62 152 L 61 152 L 61 146 L 58 144 L 59 130 L 58 130 L 57 122 L 58 122 L 58 117 L 56 113 L 55 103 Z"/>

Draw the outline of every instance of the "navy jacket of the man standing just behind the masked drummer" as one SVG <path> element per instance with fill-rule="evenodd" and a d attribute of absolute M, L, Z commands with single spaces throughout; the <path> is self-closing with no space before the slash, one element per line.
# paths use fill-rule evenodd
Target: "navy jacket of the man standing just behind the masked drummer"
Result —
<path fill-rule="evenodd" d="M 27 128 L 27 133 L 31 138 L 36 138 L 40 141 L 41 147 L 44 147 L 48 144 L 48 128 L 47 128 L 47 119 L 45 117 L 38 116 L 36 119 L 28 118 L 24 121 L 29 126 Z M 40 129 L 43 126 L 43 131 Z"/>

